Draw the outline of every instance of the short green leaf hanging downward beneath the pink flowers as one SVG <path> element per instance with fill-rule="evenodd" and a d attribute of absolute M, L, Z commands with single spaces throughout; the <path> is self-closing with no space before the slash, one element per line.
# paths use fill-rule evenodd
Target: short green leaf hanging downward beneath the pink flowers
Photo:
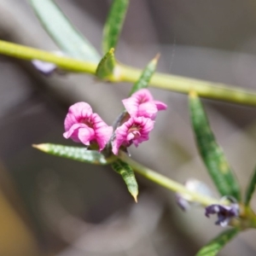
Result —
<path fill-rule="evenodd" d="M 138 186 L 135 174 L 131 169 L 131 166 L 122 160 L 116 160 L 111 166 L 115 172 L 118 172 L 123 177 L 125 184 L 127 185 L 127 189 L 134 197 L 134 200 L 137 202 Z"/>

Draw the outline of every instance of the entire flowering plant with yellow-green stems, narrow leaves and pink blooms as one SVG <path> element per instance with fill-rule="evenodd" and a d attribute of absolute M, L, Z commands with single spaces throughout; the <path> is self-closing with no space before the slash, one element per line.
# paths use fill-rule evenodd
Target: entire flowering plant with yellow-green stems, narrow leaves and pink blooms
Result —
<path fill-rule="evenodd" d="M 107 125 L 98 113 L 94 113 L 88 102 L 77 102 L 69 108 L 64 121 L 63 136 L 80 143 L 81 147 L 44 143 L 33 145 L 34 148 L 71 160 L 94 165 L 111 165 L 124 179 L 135 201 L 137 201 L 138 185 L 134 172 L 137 172 L 152 182 L 174 191 L 177 203 L 183 209 L 196 202 L 201 207 L 205 207 L 207 217 L 210 214 L 217 214 L 216 224 L 223 227 L 229 225 L 230 228 L 202 247 L 196 254 L 198 256 L 216 255 L 239 232 L 256 228 L 256 216 L 250 207 L 256 183 L 256 171 L 249 179 L 246 195 L 243 198 L 224 152 L 215 140 L 200 99 L 206 97 L 256 106 L 256 92 L 236 89 L 225 84 L 155 73 L 159 55 L 150 61 L 143 71 L 116 61 L 114 48 L 125 20 L 128 0 L 112 2 L 103 29 L 102 58 L 52 0 L 30 0 L 29 3 L 46 32 L 60 48 L 61 54 L 0 41 L 1 54 L 33 61 L 34 66 L 46 74 L 59 69 L 70 73 L 87 73 L 108 82 L 126 81 L 133 84 L 130 95 L 122 101 L 125 110 L 120 109 L 119 117 L 112 126 Z M 206 189 L 204 192 L 196 189 L 204 186 L 198 181 L 193 180 L 183 185 L 131 159 L 128 148 L 132 144 L 137 147 L 148 140 L 149 132 L 153 132 L 158 111 L 167 108 L 164 102 L 154 100 L 147 89 L 148 85 L 188 94 L 195 141 L 201 159 L 218 189 L 219 199 L 206 195 Z M 190 186 L 191 183 L 193 186 Z"/>

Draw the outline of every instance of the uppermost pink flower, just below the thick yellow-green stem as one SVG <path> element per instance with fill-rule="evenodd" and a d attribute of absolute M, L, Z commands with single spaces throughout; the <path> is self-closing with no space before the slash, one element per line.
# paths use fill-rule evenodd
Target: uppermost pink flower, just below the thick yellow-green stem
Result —
<path fill-rule="evenodd" d="M 165 103 L 154 101 L 148 89 L 138 90 L 122 102 L 131 117 L 143 116 L 153 120 L 159 110 L 165 110 L 167 108 Z"/>

